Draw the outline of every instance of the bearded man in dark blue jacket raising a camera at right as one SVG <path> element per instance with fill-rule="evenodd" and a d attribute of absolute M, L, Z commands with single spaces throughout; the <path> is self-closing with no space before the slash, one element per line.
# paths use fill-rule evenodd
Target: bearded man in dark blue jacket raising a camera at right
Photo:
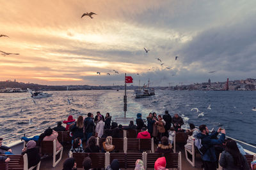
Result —
<path fill-rule="evenodd" d="M 201 155 L 202 160 L 204 162 L 204 169 L 205 170 L 216 170 L 216 154 L 215 154 L 215 148 L 214 145 L 220 145 L 225 140 L 225 129 L 221 130 L 221 128 L 218 129 L 218 131 L 212 131 L 209 135 L 209 129 L 206 125 L 200 125 L 199 127 L 200 133 L 197 134 L 197 138 L 201 139 L 201 144 L 206 148 L 206 152 L 204 155 Z M 219 132 L 221 132 L 221 136 L 219 139 L 216 139 Z"/>

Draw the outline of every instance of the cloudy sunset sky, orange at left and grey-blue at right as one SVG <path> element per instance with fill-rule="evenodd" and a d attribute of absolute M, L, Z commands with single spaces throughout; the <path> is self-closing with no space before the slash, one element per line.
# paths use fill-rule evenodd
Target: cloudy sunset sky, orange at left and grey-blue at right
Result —
<path fill-rule="evenodd" d="M 0 3 L 0 34 L 10 37 L 0 37 L 0 51 L 20 53 L 0 55 L 0 81 L 123 85 L 127 73 L 134 85 L 150 78 L 167 86 L 256 78 L 254 0 Z M 93 19 L 81 18 L 90 11 Z"/>

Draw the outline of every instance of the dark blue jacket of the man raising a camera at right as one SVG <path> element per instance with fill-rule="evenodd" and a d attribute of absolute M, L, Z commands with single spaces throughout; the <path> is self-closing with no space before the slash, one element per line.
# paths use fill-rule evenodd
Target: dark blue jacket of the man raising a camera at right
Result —
<path fill-rule="evenodd" d="M 215 155 L 215 148 L 214 145 L 220 145 L 225 140 L 225 134 L 221 134 L 219 139 L 216 139 L 218 136 L 218 132 L 213 131 L 210 135 L 209 134 L 202 134 L 201 132 L 198 133 L 196 136 L 198 139 L 201 139 L 201 144 L 207 148 L 204 155 L 201 155 L 202 160 L 209 161 L 209 162 L 216 162 L 216 155 Z"/>

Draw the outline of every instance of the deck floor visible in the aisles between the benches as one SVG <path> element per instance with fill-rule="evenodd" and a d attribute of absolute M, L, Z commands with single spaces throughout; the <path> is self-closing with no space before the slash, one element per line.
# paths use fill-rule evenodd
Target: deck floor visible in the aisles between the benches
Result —
<path fill-rule="evenodd" d="M 196 153 L 196 166 L 193 167 L 191 166 L 191 164 L 189 164 L 189 162 L 186 160 L 185 157 L 185 152 L 184 152 L 184 148 L 179 148 L 179 146 L 177 146 L 176 148 L 177 152 L 181 152 L 181 157 L 182 157 L 182 170 L 192 170 L 192 169 L 202 169 L 201 165 L 202 165 L 202 161 L 200 159 L 200 154 Z M 50 169 L 54 169 L 54 170 L 62 170 L 63 169 L 63 162 L 65 161 L 65 159 L 68 158 L 68 151 L 69 148 L 67 148 L 67 146 L 65 146 L 64 150 L 63 150 L 63 154 L 62 154 L 62 159 L 59 162 L 59 164 L 56 167 L 52 167 L 52 157 L 46 157 L 45 159 L 41 160 L 41 165 L 40 165 L 40 170 L 50 170 Z M 135 162 L 134 162 L 134 166 L 135 166 Z M 82 170 L 82 168 L 77 168 L 78 170 Z M 129 170 L 129 169 L 128 169 Z"/>

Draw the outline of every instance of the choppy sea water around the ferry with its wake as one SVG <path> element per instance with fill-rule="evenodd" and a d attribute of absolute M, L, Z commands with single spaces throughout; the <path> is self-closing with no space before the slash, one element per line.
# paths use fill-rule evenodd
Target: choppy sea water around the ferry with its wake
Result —
<path fill-rule="evenodd" d="M 49 92 L 52 97 L 34 99 L 28 93 L 0 94 L 0 136 L 8 138 L 40 127 L 52 125 L 67 119 L 68 115 L 77 118 L 88 112 L 109 112 L 112 117 L 123 117 L 124 90 L 102 91 L 61 91 Z M 179 113 L 186 125 L 206 124 L 223 127 L 227 135 L 256 146 L 255 118 L 256 92 L 239 91 L 168 91 L 157 90 L 156 96 L 134 99 L 132 91 L 127 92 L 127 117 L 136 117 L 136 113 L 156 111 L 163 114 L 169 110 L 171 115 Z M 70 104 L 67 101 L 70 99 Z M 211 104 L 211 110 L 207 107 Z M 198 117 L 196 111 L 204 112 Z M 29 124 L 29 119 L 33 124 Z"/>

